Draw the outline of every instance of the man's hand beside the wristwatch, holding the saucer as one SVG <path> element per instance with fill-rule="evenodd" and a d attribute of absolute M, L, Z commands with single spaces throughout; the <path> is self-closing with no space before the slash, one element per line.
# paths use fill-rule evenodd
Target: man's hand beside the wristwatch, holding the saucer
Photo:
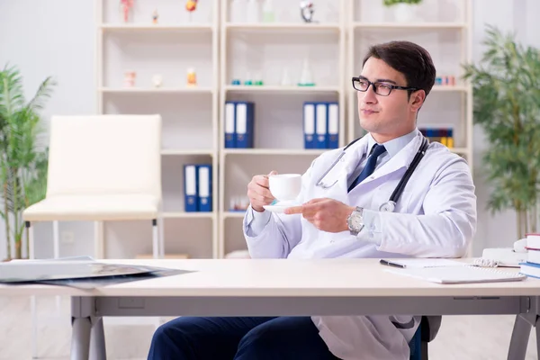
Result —
<path fill-rule="evenodd" d="M 305 220 L 310 221 L 315 228 L 328 231 L 347 231 L 347 217 L 355 210 L 343 202 L 333 199 L 313 199 L 302 206 L 285 209 L 286 214 L 301 213 Z"/>

